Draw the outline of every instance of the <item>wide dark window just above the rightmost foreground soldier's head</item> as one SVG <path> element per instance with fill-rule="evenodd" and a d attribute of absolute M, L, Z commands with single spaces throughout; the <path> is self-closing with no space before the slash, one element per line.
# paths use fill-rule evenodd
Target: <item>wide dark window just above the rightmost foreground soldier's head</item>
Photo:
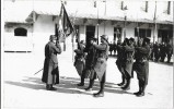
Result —
<path fill-rule="evenodd" d="M 139 37 L 141 37 L 141 38 L 151 37 L 151 29 L 139 28 L 139 33 L 138 33 L 138 29 L 135 28 L 135 37 L 138 37 L 138 34 L 139 34 Z"/>

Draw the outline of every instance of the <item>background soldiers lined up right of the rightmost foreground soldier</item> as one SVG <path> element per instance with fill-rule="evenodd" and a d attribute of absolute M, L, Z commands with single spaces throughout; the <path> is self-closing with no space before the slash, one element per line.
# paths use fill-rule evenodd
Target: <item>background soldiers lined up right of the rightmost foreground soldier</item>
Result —
<path fill-rule="evenodd" d="M 171 62 L 171 57 L 173 55 L 173 48 L 170 43 L 162 43 L 158 44 L 155 43 L 154 45 L 151 44 L 151 60 L 154 60 L 155 62 L 161 61 L 164 62 L 165 58 L 167 58 L 167 63 Z"/>

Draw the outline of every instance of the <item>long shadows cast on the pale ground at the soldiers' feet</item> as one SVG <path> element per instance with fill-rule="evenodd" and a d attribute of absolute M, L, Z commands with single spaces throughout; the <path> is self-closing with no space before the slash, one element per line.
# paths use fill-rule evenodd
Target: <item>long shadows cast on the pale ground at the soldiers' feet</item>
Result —
<path fill-rule="evenodd" d="M 57 90 L 54 90 L 54 92 L 66 93 L 66 94 L 92 95 L 90 92 L 84 90 L 84 88 L 88 87 L 88 85 L 89 85 L 88 80 L 85 81 L 85 85 L 82 87 L 77 86 L 77 84 L 79 82 L 80 82 L 80 78 L 60 76 L 60 84 L 55 85 Z M 44 89 L 45 90 L 45 84 L 42 82 L 42 80 L 39 77 L 25 76 L 25 78 L 22 80 L 22 82 L 5 81 L 5 83 L 11 84 L 11 85 L 15 85 L 15 86 L 25 87 L 25 88 L 31 88 L 31 89 Z M 100 89 L 98 85 L 100 85 L 100 83 L 97 81 L 95 81 L 95 84 L 93 86 L 93 90 L 98 92 L 98 89 Z M 130 95 L 132 95 L 132 93 L 124 92 L 115 85 L 116 84 L 114 84 L 114 83 L 106 82 L 104 90 L 107 93 L 114 93 L 114 94 L 130 94 Z"/>

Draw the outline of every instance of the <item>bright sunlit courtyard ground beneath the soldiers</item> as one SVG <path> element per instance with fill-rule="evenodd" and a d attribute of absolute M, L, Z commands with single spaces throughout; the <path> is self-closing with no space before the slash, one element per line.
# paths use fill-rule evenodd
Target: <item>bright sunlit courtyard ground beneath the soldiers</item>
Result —
<path fill-rule="evenodd" d="M 36 53 L 3 53 L 2 108 L 4 109 L 57 109 L 57 108 L 173 108 L 173 65 L 150 62 L 149 85 L 144 97 L 136 97 L 137 75 L 131 80 L 130 90 L 123 92 L 116 84 L 120 73 L 115 65 L 116 58 L 108 59 L 105 96 L 94 98 L 98 81 L 92 92 L 77 87 L 79 75 L 73 68 L 71 53 L 58 56 L 60 84 L 55 92 L 45 89 L 40 82 L 44 56 Z M 35 74 L 35 75 L 34 75 Z"/>

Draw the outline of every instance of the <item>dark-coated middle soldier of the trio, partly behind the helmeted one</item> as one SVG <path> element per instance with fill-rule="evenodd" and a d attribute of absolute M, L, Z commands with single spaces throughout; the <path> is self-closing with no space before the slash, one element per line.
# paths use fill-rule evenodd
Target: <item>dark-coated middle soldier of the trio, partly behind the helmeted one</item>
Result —
<path fill-rule="evenodd" d="M 90 39 L 90 47 L 84 49 L 84 52 L 88 52 L 86 57 L 85 57 L 85 66 L 84 66 L 84 70 L 82 71 L 82 75 L 81 75 L 81 82 L 78 84 L 78 86 L 83 86 L 84 85 L 84 78 L 93 78 L 94 73 L 93 73 L 93 70 L 92 70 L 92 65 L 94 63 L 94 56 L 95 56 L 95 49 L 94 47 L 92 46 L 92 44 L 96 41 L 96 38 L 91 38 Z"/>

